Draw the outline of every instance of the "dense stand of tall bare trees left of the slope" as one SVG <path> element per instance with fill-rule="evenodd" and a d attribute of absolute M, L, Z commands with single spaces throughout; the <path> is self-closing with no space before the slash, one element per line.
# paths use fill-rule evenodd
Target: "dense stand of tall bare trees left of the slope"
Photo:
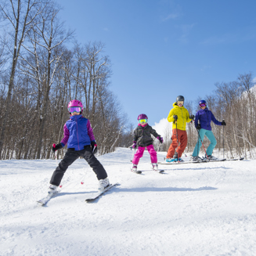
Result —
<path fill-rule="evenodd" d="M 84 104 L 100 154 L 131 141 L 130 124 L 110 91 L 111 63 L 103 43 L 76 42 L 68 49 L 74 31 L 65 29 L 58 13 L 50 0 L 0 1 L 2 160 L 53 157 L 52 142 L 63 138 L 71 99 Z"/>

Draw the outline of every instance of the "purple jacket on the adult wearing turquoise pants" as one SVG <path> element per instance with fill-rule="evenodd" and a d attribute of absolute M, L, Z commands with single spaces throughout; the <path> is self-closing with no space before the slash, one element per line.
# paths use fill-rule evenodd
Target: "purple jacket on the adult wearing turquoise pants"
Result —
<path fill-rule="evenodd" d="M 211 131 L 211 121 L 213 121 L 217 125 L 222 125 L 221 122 L 216 120 L 214 114 L 211 113 L 211 110 L 208 110 L 207 107 L 204 110 L 197 111 L 195 118 L 195 126 L 197 128 L 197 124 L 201 124 L 201 128 Z"/>

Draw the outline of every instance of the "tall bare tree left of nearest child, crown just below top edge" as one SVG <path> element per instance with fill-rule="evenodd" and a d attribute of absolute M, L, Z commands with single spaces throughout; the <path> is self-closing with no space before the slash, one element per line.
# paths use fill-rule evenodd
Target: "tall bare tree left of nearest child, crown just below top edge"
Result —
<path fill-rule="evenodd" d="M 38 83 L 38 112 L 39 132 L 37 142 L 37 159 L 41 155 L 41 142 L 45 128 L 45 120 L 49 108 L 49 92 L 55 80 L 56 69 L 60 64 L 63 52 L 59 51 L 60 45 L 71 38 L 73 31 L 65 32 L 63 23 L 59 23 L 57 14 L 59 9 L 48 5 L 40 15 L 40 22 L 34 23 L 33 36 L 30 37 L 33 52 L 26 45 L 23 45 L 28 52 L 34 56 L 34 63 L 27 63 L 28 70 L 32 71 L 33 77 Z M 41 56 L 38 56 L 38 48 L 41 49 Z M 45 58 L 46 56 L 46 58 Z M 39 65 L 39 63 L 42 63 Z M 40 68 L 41 67 L 41 68 Z M 41 93 L 42 92 L 42 93 Z"/>

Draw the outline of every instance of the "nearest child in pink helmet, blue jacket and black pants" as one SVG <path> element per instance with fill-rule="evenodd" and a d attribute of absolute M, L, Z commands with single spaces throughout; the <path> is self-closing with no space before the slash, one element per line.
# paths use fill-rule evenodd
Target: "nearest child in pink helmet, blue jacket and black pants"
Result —
<path fill-rule="evenodd" d="M 67 110 L 70 113 L 70 120 L 64 125 L 64 137 L 59 144 L 52 145 L 52 151 L 55 153 L 56 150 L 60 150 L 67 144 L 67 153 L 52 174 L 48 193 L 56 192 L 65 171 L 78 157 L 83 157 L 96 173 L 99 180 L 99 190 L 110 185 L 103 165 L 94 156 L 97 151 L 97 144 L 90 121 L 82 116 L 83 109 L 83 104 L 77 99 L 68 103 Z"/>

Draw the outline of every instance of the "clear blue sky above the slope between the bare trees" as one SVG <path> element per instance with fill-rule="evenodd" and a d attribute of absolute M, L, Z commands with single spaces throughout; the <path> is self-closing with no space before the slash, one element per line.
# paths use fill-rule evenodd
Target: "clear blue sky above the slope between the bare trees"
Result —
<path fill-rule="evenodd" d="M 176 96 L 195 102 L 216 82 L 256 77 L 254 0 L 57 0 L 79 43 L 102 41 L 110 89 L 132 124 L 167 117 Z M 193 113 L 195 114 L 195 113 Z"/>

